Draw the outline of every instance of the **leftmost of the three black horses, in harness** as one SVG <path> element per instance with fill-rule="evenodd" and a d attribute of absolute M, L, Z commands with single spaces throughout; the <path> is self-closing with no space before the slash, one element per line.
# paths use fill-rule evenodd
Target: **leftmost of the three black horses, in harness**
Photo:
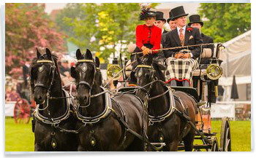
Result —
<path fill-rule="evenodd" d="M 77 151 L 74 133 L 76 119 L 72 115 L 69 95 L 61 88 L 57 57 L 46 48 L 31 64 L 31 91 L 37 106 L 34 112 L 34 151 Z"/>

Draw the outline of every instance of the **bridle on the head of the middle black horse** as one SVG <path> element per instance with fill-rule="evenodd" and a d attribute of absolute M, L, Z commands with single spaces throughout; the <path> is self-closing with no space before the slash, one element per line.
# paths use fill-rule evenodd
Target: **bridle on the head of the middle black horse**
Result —
<path fill-rule="evenodd" d="M 86 81 L 80 81 L 76 84 L 77 89 L 80 85 L 85 85 L 89 89 L 89 103 L 86 106 L 80 106 L 80 104 L 78 104 L 78 106 L 80 106 L 81 108 L 86 108 L 91 104 L 91 89 L 95 82 L 95 75 L 97 73 L 97 68 L 94 64 L 94 60 L 81 59 L 81 60 L 78 60 L 78 63 L 93 63 L 93 66 L 94 66 L 94 79 L 92 80 L 92 84 L 89 84 L 89 82 L 86 82 Z"/>

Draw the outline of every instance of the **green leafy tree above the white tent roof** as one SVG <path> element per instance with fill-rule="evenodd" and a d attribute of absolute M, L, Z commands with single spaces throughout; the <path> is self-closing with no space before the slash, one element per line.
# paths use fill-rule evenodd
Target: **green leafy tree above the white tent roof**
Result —
<path fill-rule="evenodd" d="M 250 3 L 200 4 L 199 14 L 204 20 L 202 32 L 214 42 L 227 42 L 251 29 Z"/>

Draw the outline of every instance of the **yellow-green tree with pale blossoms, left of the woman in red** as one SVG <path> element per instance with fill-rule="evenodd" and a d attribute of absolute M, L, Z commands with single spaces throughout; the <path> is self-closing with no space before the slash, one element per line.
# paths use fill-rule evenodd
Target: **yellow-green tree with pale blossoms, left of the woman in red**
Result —
<path fill-rule="evenodd" d="M 58 15 L 62 28 L 72 29 L 69 41 L 80 49 L 91 49 L 100 52 L 99 57 L 105 61 L 114 52 L 127 53 L 127 44 L 135 43 L 136 25 L 143 22 L 138 20 L 140 5 L 135 3 L 103 3 L 79 4 L 67 6 L 67 10 L 83 14 L 67 15 L 61 12 Z M 158 4 L 151 4 L 154 8 Z M 67 29 L 67 31 L 68 31 Z M 93 40 L 92 40 L 93 39 Z"/>

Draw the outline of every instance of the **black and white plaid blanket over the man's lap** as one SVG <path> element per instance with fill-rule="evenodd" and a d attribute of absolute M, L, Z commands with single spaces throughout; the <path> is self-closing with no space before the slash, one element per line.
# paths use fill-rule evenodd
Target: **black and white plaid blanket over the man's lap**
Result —
<path fill-rule="evenodd" d="M 193 70 L 198 68 L 197 60 L 189 59 L 176 59 L 173 57 L 165 60 L 167 69 L 165 71 L 165 79 L 169 82 L 172 79 L 179 81 L 189 80 L 191 82 Z"/>

